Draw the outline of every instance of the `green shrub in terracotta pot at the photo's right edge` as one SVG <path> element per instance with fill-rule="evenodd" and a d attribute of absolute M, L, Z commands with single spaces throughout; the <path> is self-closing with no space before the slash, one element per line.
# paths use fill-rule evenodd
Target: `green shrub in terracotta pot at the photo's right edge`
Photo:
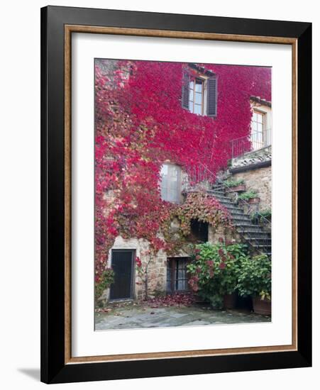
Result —
<path fill-rule="evenodd" d="M 271 261 L 267 255 L 241 258 L 237 289 L 240 296 L 252 297 L 255 313 L 271 314 Z"/>

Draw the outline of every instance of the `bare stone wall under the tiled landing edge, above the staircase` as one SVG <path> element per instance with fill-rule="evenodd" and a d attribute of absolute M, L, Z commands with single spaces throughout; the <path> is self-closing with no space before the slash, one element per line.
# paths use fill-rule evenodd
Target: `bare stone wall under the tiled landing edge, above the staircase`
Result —
<path fill-rule="evenodd" d="M 259 211 L 270 209 L 272 204 L 271 166 L 248 169 L 232 174 L 232 180 L 243 179 L 246 191 L 255 191 L 260 197 Z"/>

